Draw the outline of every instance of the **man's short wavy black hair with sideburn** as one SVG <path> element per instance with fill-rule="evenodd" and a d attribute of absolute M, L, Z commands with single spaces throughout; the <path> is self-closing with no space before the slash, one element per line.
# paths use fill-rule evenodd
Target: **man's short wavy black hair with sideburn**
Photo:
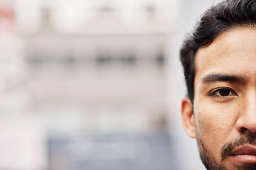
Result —
<path fill-rule="evenodd" d="M 193 33 L 184 40 L 180 60 L 188 89 L 188 97 L 193 103 L 195 81 L 195 56 L 201 47 L 207 47 L 227 30 L 238 27 L 256 26 L 256 0 L 225 0 L 210 7 Z"/>

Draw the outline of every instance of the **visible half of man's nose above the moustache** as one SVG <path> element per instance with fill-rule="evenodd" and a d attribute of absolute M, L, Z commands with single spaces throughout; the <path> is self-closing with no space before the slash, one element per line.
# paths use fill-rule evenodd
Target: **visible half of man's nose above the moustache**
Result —
<path fill-rule="evenodd" d="M 239 132 L 256 134 L 256 91 L 250 93 L 240 103 L 240 113 L 235 127 Z"/>

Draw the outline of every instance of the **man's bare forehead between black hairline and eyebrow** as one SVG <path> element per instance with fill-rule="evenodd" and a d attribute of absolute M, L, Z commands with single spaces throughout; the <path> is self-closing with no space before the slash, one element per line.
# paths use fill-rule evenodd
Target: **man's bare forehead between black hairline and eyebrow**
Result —
<path fill-rule="evenodd" d="M 196 53 L 195 86 L 207 74 L 255 74 L 256 29 L 233 28 Z"/>

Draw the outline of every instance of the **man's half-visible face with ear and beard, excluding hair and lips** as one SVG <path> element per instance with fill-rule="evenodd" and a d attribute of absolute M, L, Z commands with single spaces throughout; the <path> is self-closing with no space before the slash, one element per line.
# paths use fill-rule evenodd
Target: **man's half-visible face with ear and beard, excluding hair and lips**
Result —
<path fill-rule="evenodd" d="M 207 169 L 256 169 L 256 162 L 229 154 L 249 143 L 256 147 L 256 28 L 220 33 L 198 50 L 195 63 L 193 107 L 183 98 L 181 115 L 203 163 Z"/>

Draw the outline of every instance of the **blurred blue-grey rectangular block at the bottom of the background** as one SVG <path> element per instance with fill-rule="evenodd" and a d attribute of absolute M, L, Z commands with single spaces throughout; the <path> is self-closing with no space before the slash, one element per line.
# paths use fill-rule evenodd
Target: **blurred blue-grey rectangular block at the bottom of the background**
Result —
<path fill-rule="evenodd" d="M 175 169 L 175 155 L 167 134 L 76 135 L 51 140 L 49 146 L 50 170 Z"/>

